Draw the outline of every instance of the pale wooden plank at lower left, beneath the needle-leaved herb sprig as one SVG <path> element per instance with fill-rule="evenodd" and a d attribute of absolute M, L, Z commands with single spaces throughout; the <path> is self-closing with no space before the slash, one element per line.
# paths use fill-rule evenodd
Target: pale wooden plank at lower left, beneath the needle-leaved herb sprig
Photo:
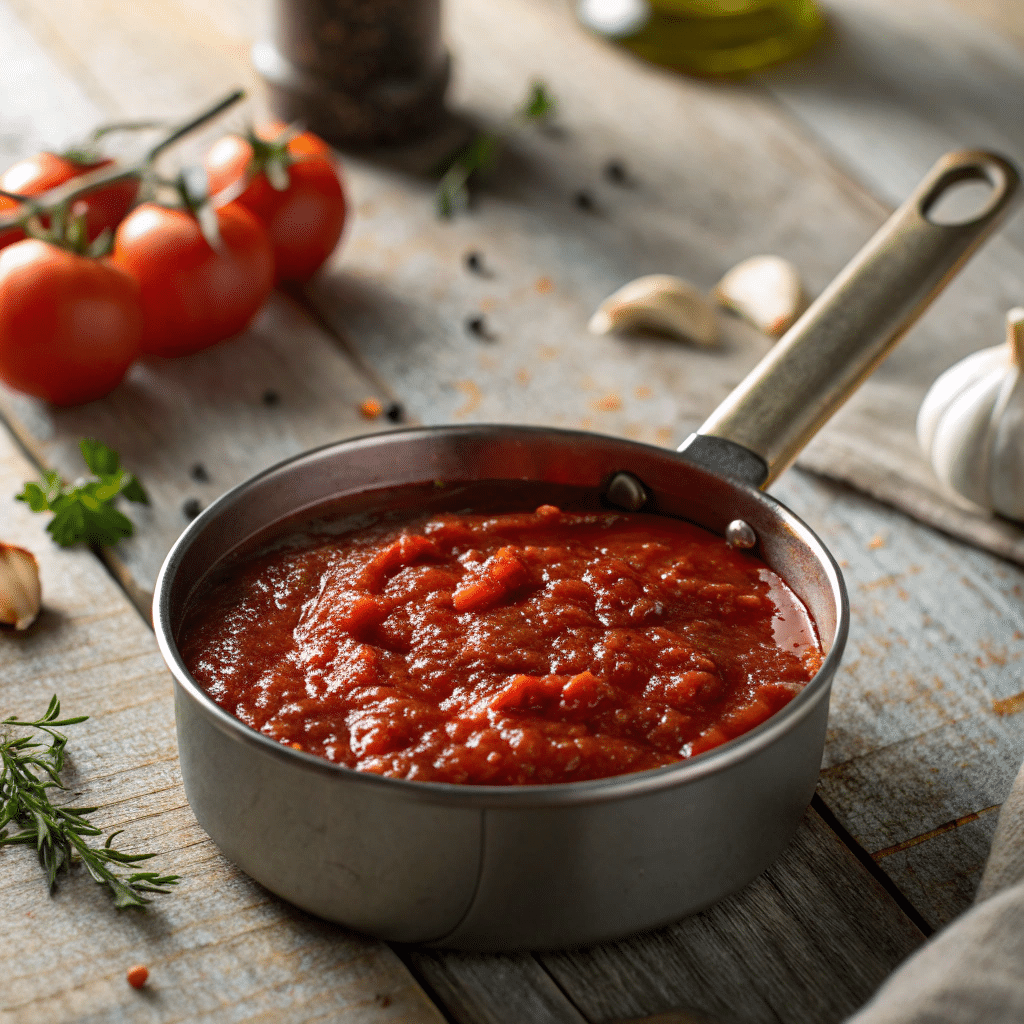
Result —
<path fill-rule="evenodd" d="M 0 851 L 0 1021 L 421 1021 L 442 1018 L 383 943 L 288 907 L 225 861 L 196 823 L 177 767 L 170 677 L 156 642 L 94 556 L 56 549 L 12 500 L 30 466 L 0 428 L 0 536 L 34 551 L 45 610 L 0 628 L 0 717 L 69 715 L 68 800 L 99 807 L 119 846 L 179 873 L 142 912 L 114 909 L 79 867 L 55 894 L 30 850 Z M 145 991 L 125 971 L 148 965 Z"/>

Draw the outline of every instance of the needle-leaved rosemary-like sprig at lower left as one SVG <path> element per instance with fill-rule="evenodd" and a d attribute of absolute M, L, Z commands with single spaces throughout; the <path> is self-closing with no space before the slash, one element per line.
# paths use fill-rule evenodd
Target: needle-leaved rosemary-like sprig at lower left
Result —
<path fill-rule="evenodd" d="M 116 874 L 112 865 L 135 864 L 156 855 L 115 850 L 111 844 L 120 831 L 110 835 L 102 846 L 90 845 L 89 838 L 102 835 L 86 819 L 96 808 L 56 807 L 49 798 L 50 790 L 65 788 L 60 771 L 68 737 L 56 730 L 87 717 L 61 719 L 60 701 L 54 696 L 46 714 L 36 722 L 13 717 L 0 722 L 0 847 L 34 846 L 51 891 L 57 874 L 81 861 L 99 885 L 111 890 L 116 907 L 143 906 L 151 902 L 144 893 L 168 893 L 167 887 L 176 885 L 179 877 L 156 871 Z M 32 734 L 13 736 L 14 728 L 35 730 L 36 736 L 43 733 L 50 741 L 40 742 Z M 9 824 L 20 831 L 8 836 Z"/>

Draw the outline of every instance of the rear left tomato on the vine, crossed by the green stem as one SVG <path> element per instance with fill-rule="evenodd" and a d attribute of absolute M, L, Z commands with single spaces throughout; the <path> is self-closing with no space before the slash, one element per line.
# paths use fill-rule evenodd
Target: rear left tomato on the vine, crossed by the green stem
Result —
<path fill-rule="evenodd" d="M 19 160 L 0 174 L 0 188 L 22 196 L 39 196 L 72 178 L 113 163 L 113 160 L 79 163 L 55 153 L 37 153 L 34 157 Z M 78 217 L 85 214 L 86 232 L 92 242 L 102 233 L 103 228 L 109 227 L 113 231 L 118 226 L 137 195 L 136 180 L 129 178 L 115 181 L 90 193 L 88 197 L 76 200 L 72 205 L 71 215 Z M 0 198 L 0 216 L 6 216 L 16 209 L 17 204 L 12 200 Z M 0 232 L 0 249 L 24 238 L 25 233 L 17 228 Z"/>

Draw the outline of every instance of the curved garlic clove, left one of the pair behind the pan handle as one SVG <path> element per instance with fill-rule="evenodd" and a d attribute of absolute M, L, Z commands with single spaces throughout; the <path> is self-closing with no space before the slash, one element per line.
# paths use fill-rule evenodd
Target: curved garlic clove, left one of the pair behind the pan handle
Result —
<path fill-rule="evenodd" d="M 597 307 L 588 327 L 594 334 L 644 328 L 705 346 L 718 341 L 714 307 L 689 282 L 669 273 L 624 285 Z"/>

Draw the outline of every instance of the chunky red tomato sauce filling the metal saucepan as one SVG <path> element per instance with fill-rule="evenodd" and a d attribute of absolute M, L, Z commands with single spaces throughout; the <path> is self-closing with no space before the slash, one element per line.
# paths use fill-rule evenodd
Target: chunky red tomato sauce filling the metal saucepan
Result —
<path fill-rule="evenodd" d="M 807 610 L 719 537 L 642 513 L 440 513 L 278 546 L 189 609 L 222 708 L 359 771 L 520 785 L 693 757 L 814 676 Z"/>

